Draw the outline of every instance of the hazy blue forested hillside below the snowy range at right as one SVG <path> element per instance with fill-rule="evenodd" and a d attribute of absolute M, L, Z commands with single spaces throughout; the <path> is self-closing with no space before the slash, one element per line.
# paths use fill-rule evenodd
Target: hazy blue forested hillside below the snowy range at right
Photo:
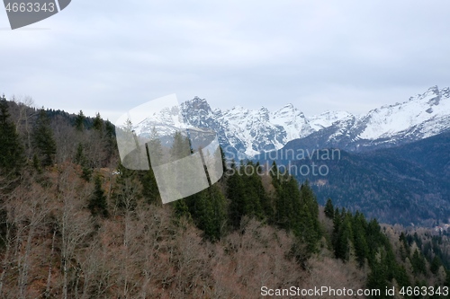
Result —
<path fill-rule="evenodd" d="M 291 166 L 298 180 L 311 181 L 322 205 L 333 198 L 339 207 L 389 224 L 431 227 L 450 222 L 450 132 L 364 153 L 338 150 L 325 159 L 322 154 L 337 149 L 311 150 L 303 158 L 298 153 L 305 146 L 300 140 L 292 142 L 277 153 L 260 155 L 258 161 L 271 163 L 275 157 L 276 163 Z M 319 167 L 327 175 L 320 175 Z"/>

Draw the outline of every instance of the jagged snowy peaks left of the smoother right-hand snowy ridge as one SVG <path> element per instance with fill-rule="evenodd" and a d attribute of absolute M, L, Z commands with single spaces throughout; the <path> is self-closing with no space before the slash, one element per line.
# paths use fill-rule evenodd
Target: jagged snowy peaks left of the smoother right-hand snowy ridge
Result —
<path fill-rule="evenodd" d="M 347 116 L 348 113 L 342 114 Z M 332 120 L 338 120 L 339 114 L 315 119 L 318 128 L 329 126 Z M 247 110 L 237 106 L 231 110 L 211 110 L 204 99 L 194 97 L 184 101 L 179 110 L 165 109 L 160 115 L 152 115 L 134 127 L 139 135 L 145 135 L 155 127 L 162 135 L 171 135 L 175 128 L 193 126 L 210 128 L 217 132 L 220 144 L 227 152 L 241 154 L 240 158 L 282 148 L 287 142 L 310 135 L 309 120 L 302 111 L 288 104 L 280 110 L 271 112 L 262 107 L 259 110 Z M 237 157 L 238 158 L 238 157 Z"/>

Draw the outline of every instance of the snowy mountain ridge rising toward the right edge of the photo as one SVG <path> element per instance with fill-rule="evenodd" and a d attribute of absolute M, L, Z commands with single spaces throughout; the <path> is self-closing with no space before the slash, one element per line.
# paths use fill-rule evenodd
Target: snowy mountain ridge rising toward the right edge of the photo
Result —
<path fill-rule="evenodd" d="M 336 147 L 351 152 L 403 145 L 450 128 L 450 89 L 431 87 L 409 101 L 339 119 L 285 148 Z"/>

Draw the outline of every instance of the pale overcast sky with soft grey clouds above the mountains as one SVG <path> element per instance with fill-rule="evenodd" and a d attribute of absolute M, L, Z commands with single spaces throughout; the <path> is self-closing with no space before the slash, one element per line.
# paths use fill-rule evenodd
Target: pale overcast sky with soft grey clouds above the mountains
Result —
<path fill-rule="evenodd" d="M 73 0 L 11 31 L 1 9 L 0 92 L 112 121 L 170 93 L 363 113 L 450 85 L 448 12 L 448 0 Z"/>

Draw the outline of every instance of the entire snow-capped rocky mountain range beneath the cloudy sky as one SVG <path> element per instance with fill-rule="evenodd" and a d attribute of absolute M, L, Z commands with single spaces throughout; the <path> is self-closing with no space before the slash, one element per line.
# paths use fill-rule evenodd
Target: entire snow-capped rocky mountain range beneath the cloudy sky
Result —
<path fill-rule="evenodd" d="M 152 127 L 173 134 L 174 128 L 190 125 L 217 132 L 220 145 L 229 156 L 249 158 L 260 153 L 295 148 L 338 147 L 361 152 L 402 145 L 435 136 L 450 128 L 450 88 L 431 87 L 394 105 L 370 110 L 365 115 L 346 111 L 326 111 L 307 117 L 293 104 L 280 110 L 212 110 L 199 97 L 185 101 L 179 109 L 166 109 L 159 115 L 135 124 L 139 134 Z"/>

